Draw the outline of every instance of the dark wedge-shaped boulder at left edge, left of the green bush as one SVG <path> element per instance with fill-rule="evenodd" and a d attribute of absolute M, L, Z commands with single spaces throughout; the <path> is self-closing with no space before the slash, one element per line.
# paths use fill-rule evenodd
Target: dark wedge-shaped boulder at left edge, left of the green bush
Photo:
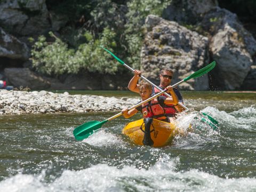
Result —
<path fill-rule="evenodd" d="M 29 49 L 25 43 L 5 33 L 0 27 L 0 57 L 27 60 L 29 58 Z"/>

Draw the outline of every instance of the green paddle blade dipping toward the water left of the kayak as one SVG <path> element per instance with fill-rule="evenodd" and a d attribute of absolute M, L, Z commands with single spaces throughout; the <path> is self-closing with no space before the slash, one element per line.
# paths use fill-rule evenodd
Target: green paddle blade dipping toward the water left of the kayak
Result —
<path fill-rule="evenodd" d="M 107 122 L 108 120 L 104 120 L 102 122 L 91 121 L 91 122 L 84 123 L 76 127 L 76 129 L 74 129 L 73 131 L 73 134 L 76 140 L 86 139 L 93 133 L 93 131 L 100 129 L 101 125 Z"/>

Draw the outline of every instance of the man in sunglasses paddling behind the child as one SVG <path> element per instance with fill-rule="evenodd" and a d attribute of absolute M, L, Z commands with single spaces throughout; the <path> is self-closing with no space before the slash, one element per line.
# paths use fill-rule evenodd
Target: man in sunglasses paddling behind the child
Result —
<path fill-rule="evenodd" d="M 141 75 L 141 71 L 134 70 L 134 76 L 132 77 L 132 79 L 128 85 L 128 89 L 130 91 L 139 93 L 137 83 L 139 81 L 140 75 Z M 164 90 L 167 86 L 169 86 L 171 84 L 172 77 L 173 77 L 173 71 L 171 69 L 168 69 L 168 68 L 162 69 L 159 74 L 159 78 L 160 78 L 159 87 Z M 182 98 L 179 90 L 176 88 L 174 88 L 173 90 L 176 93 L 176 95 L 179 99 L 179 102 L 181 102 L 183 104 L 183 98 Z M 158 93 L 158 92 L 160 92 L 160 91 L 156 87 L 153 87 L 153 94 Z M 164 95 L 164 94 L 163 94 L 163 96 L 166 97 L 166 95 Z M 177 113 L 177 111 L 182 112 L 184 110 L 183 107 L 179 106 L 178 104 L 166 105 L 164 107 L 164 109 L 165 109 L 166 115 L 171 116 L 171 117 L 175 116 L 175 113 Z"/>

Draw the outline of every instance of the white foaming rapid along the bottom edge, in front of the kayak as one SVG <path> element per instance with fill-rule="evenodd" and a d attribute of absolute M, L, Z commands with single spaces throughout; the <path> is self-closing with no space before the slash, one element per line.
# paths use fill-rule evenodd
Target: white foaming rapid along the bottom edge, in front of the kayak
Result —
<path fill-rule="evenodd" d="M 191 169 L 176 171 L 179 158 L 159 161 L 146 169 L 107 164 L 79 171 L 65 170 L 52 182 L 38 175 L 17 174 L 0 182 L 0 191 L 253 191 L 255 178 L 220 178 Z"/>

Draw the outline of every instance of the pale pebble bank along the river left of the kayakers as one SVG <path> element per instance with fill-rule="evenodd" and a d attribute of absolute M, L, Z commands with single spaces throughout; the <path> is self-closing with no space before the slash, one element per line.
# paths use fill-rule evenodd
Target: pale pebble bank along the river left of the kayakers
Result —
<path fill-rule="evenodd" d="M 70 95 L 68 92 L 0 90 L 0 115 L 115 111 L 132 107 L 139 101 L 126 97 Z"/>

